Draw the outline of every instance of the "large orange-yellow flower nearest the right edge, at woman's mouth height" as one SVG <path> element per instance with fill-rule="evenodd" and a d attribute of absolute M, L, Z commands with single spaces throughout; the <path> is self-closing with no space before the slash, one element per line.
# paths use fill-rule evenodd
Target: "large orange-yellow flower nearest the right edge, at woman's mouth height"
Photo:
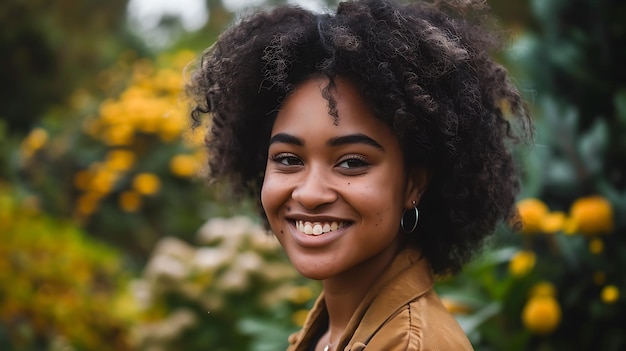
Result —
<path fill-rule="evenodd" d="M 576 200 L 570 208 L 578 231 L 585 235 L 608 234 L 613 231 L 613 207 L 601 196 Z"/>

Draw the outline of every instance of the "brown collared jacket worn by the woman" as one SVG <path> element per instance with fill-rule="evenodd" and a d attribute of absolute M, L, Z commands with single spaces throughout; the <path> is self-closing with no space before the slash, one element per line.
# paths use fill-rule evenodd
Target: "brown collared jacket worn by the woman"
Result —
<path fill-rule="evenodd" d="M 376 280 L 357 307 L 334 350 L 463 351 L 473 350 L 465 333 L 433 290 L 430 265 L 420 253 L 405 249 Z M 300 330 L 289 337 L 287 351 L 310 351 L 328 313 L 324 295 Z"/>

